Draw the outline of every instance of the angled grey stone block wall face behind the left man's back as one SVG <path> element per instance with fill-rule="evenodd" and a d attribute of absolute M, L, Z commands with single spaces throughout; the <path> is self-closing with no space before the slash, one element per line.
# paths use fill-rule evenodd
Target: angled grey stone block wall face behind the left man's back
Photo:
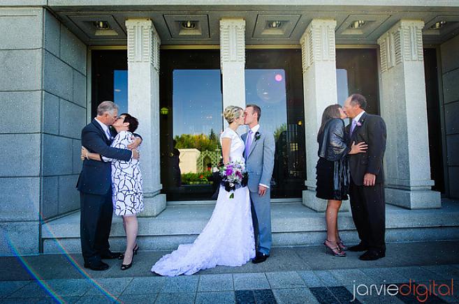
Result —
<path fill-rule="evenodd" d="M 80 133 L 86 124 L 87 47 L 45 11 L 43 195 L 45 219 L 80 208 Z"/>

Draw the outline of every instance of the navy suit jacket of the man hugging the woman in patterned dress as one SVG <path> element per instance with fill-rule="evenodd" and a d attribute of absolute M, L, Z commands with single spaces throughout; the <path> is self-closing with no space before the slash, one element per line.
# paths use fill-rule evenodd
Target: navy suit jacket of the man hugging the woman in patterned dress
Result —
<path fill-rule="evenodd" d="M 130 150 L 112 148 L 110 144 L 110 140 L 95 119 L 81 131 L 81 145 L 89 152 L 117 160 L 131 159 Z M 111 162 L 84 160 L 77 183 L 78 191 L 93 195 L 106 195 L 112 185 L 111 165 Z"/>

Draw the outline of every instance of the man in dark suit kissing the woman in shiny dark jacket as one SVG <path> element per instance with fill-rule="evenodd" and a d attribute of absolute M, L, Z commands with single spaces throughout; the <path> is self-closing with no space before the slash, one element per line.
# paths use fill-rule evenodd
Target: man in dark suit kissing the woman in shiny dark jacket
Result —
<path fill-rule="evenodd" d="M 365 251 L 359 259 L 375 260 L 386 256 L 386 202 L 384 199 L 383 157 L 386 150 L 386 123 L 378 115 L 365 112 L 367 100 L 352 94 L 344 102 L 344 112 L 352 119 L 347 126 L 349 145 L 366 142 L 366 153 L 349 155 L 351 185 L 349 196 L 352 218 L 360 243 L 349 250 Z"/>

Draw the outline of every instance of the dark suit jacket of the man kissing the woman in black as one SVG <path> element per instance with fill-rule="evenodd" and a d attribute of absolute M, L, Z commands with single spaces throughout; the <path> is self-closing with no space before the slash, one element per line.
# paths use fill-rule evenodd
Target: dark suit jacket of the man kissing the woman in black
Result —
<path fill-rule="evenodd" d="M 366 142 L 366 153 L 349 155 L 349 169 L 352 180 L 356 185 L 363 185 L 365 173 L 376 175 L 376 183 L 384 183 L 383 158 L 386 151 L 386 123 L 378 115 L 367 114 L 360 117 L 361 126 L 356 126 L 352 135 L 349 135 L 351 124 L 346 127 L 349 137 L 349 146 L 352 142 Z"/>

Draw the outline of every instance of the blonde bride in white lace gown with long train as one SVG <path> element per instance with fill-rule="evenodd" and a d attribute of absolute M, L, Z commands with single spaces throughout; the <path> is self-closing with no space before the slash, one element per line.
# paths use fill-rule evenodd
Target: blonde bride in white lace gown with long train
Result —
<path fill-rule="evenodd" d="M 224 111 L 229 126 L 220 135 L 224 164 L 244 162 L 244 142 L 236 132 L 244 124 L 240 107 L 229 106 Z M 231 198 L 233 197 L 233 198 Z M 192 244 L 161 257 L 152 267 L 159 275 L 192 275 L 217 265 L 241 266 L 255 257 L 254 227 L 247 186 L 227 192 L 220 185 L 214 212 L 201 234 Z"/>

